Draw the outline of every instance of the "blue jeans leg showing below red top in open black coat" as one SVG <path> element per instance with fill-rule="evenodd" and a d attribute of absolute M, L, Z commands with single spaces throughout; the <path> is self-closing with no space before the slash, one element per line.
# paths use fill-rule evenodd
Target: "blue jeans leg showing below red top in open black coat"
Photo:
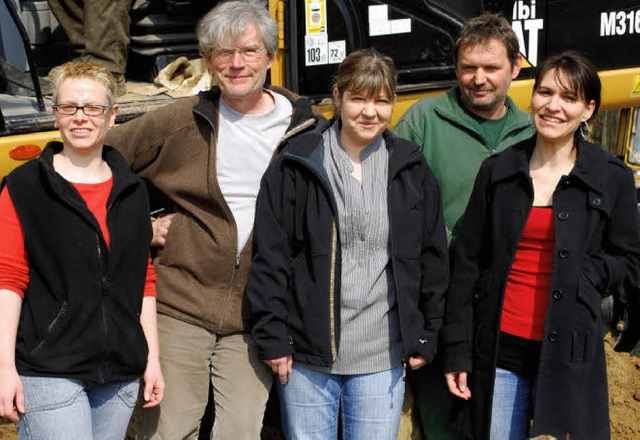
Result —
<path fill-rule="evenodd" d="M 530 437 L 534 381 L 496 368 L 491 407 L 491 440 Z"/>

